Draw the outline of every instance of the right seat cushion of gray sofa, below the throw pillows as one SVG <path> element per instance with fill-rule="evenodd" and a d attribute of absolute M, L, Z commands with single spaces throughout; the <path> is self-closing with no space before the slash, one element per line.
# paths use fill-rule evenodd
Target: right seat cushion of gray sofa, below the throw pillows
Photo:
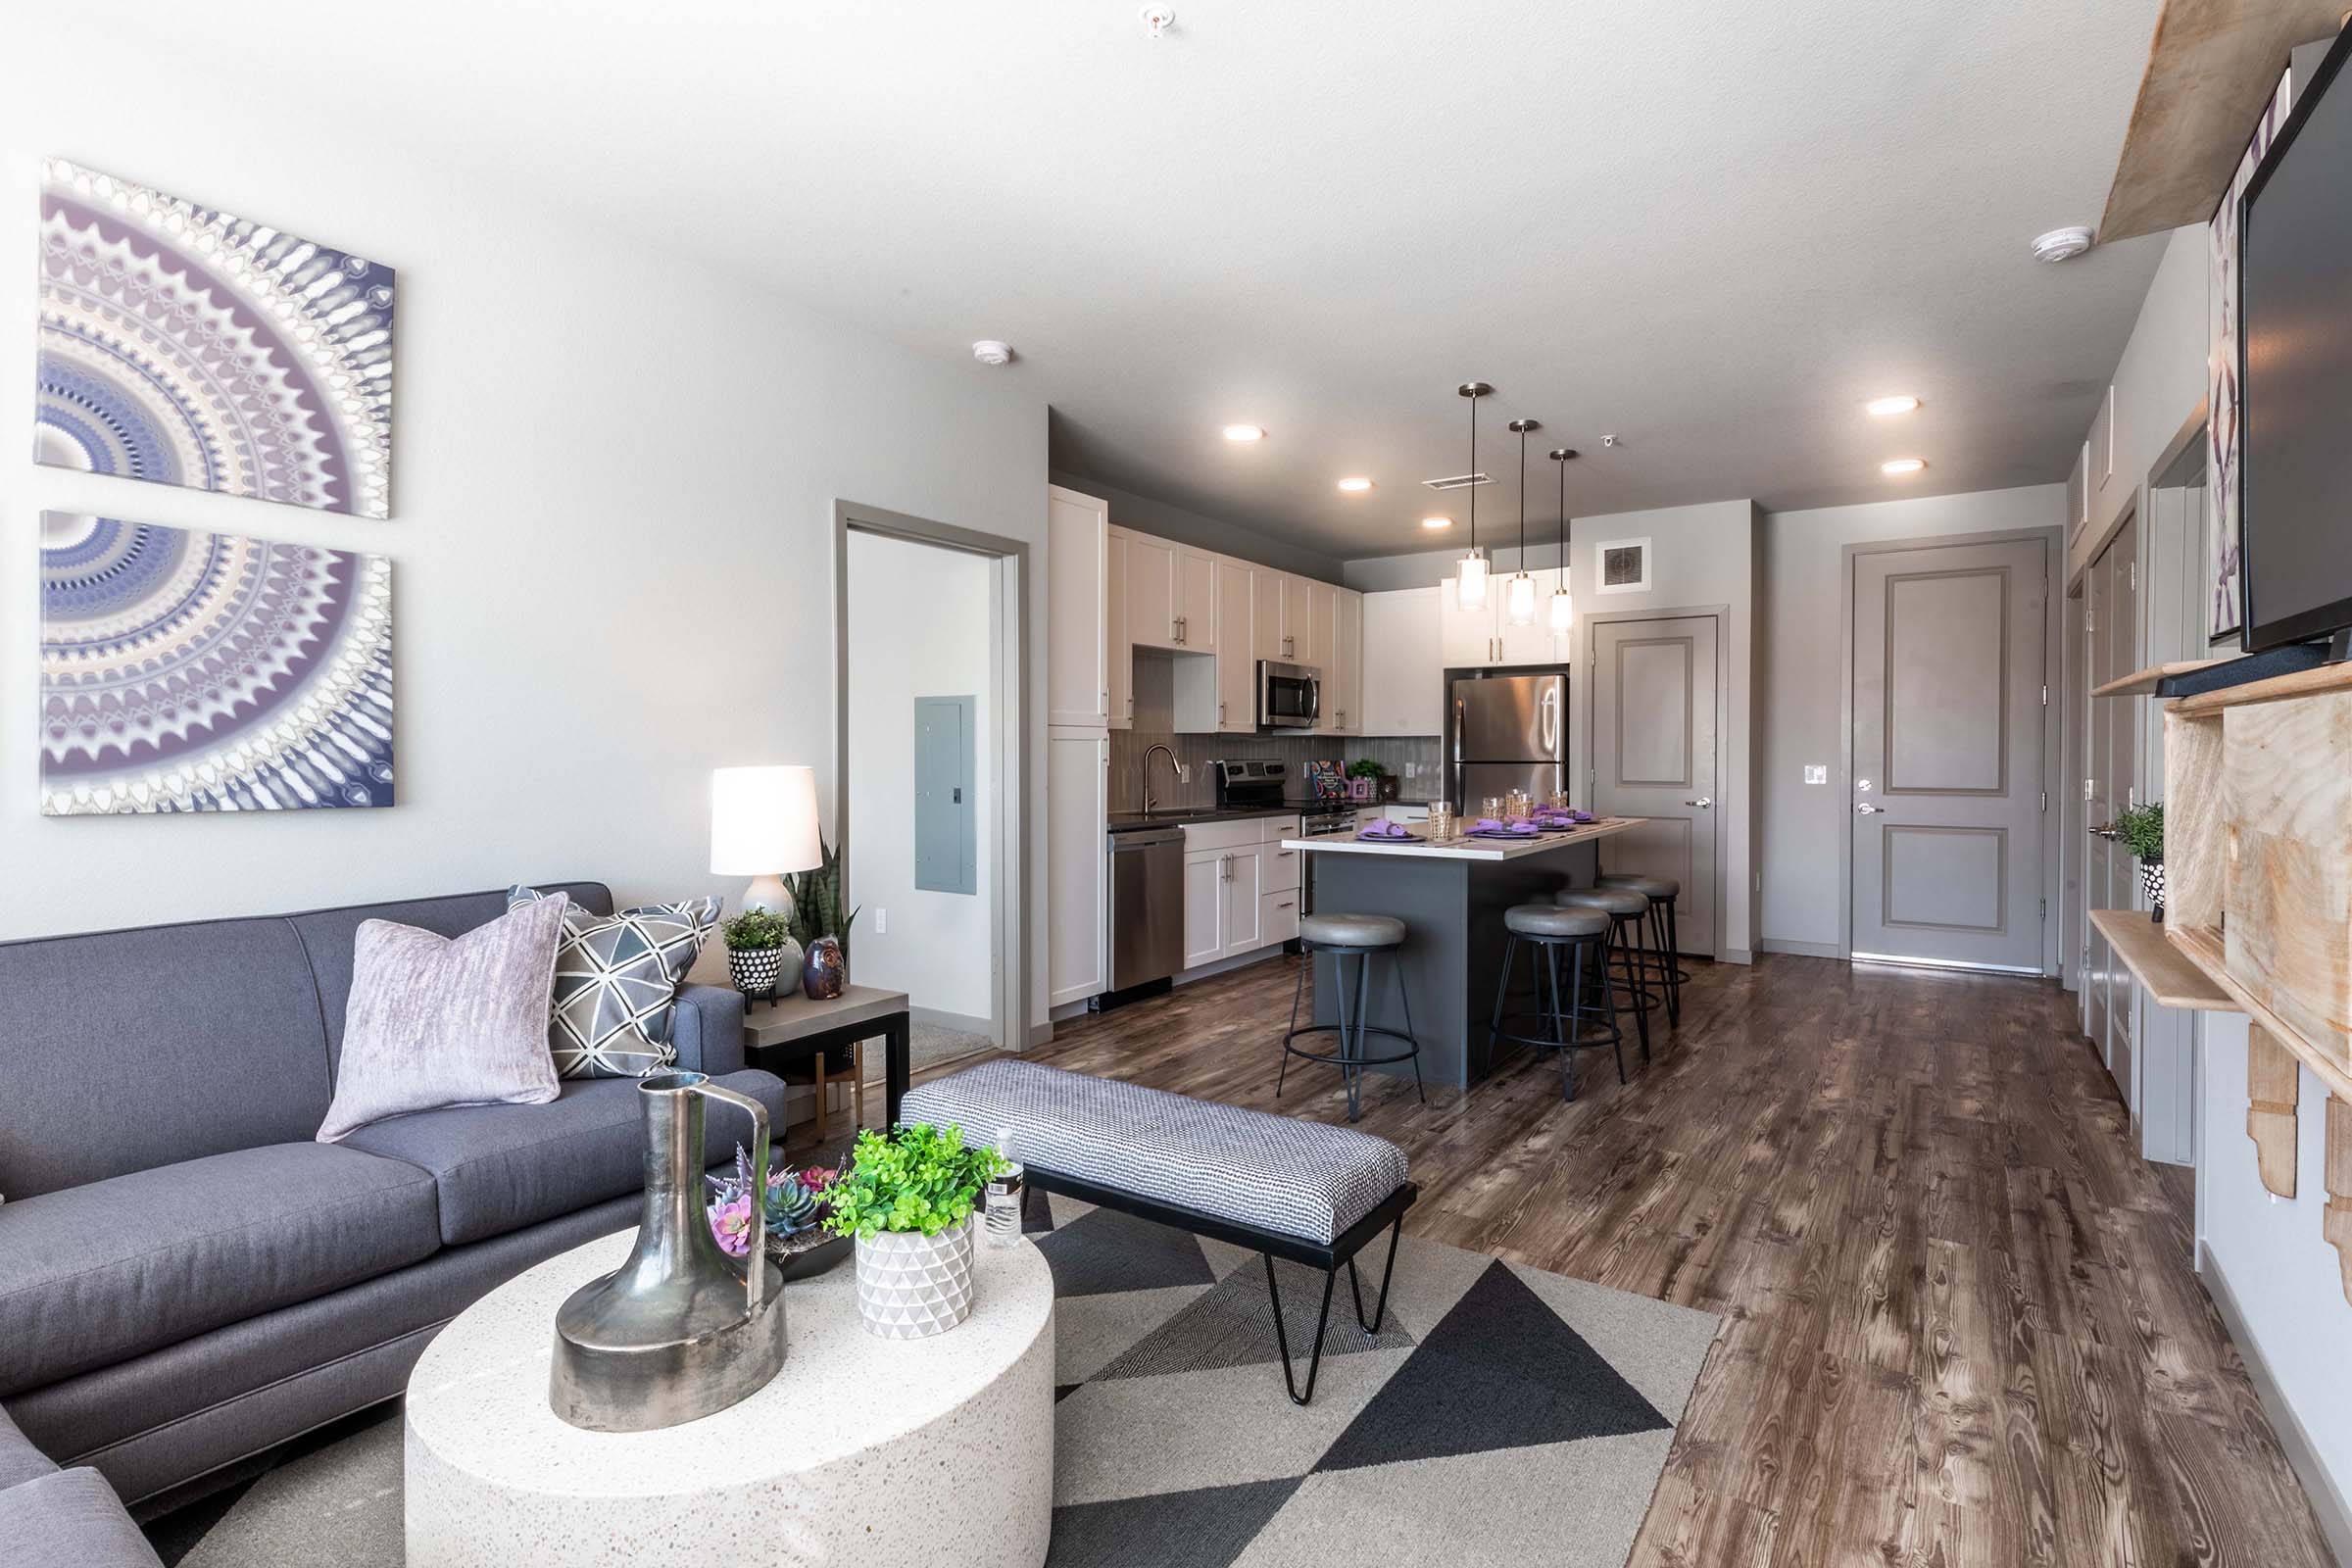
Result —
<path fill-rule="evenodd" d="M 783 1081 L 746 1070 L 713 1079 L 767 1105 L 783 1126 Z M 644 1112 L 635 1079 L 564 1079 L 550 1105 L 463 1105 L 362 1126 L 348 1150 L 405 1159 L 440 1182 L 447 1246 L 503 1237 L 644 1185 Z M 750 1119 L 713 1105 L 703 1164 L 750 1143 Z"/>

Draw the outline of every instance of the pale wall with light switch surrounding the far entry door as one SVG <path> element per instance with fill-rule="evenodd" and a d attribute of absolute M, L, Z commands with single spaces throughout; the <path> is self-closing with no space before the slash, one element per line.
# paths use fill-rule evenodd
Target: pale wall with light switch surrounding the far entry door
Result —
<path fill-rule="evenodd" d="M 1837 846 L 1851 823 L 1837 766 L 1846 677 L 1844 548 L 1891 538 L 2051 529 L 2056 576 L 2063 524 L 2065 484 L 1764 515 L 1757 844 L 1764 870 L 1766 947 L 1835 952 L 1839 945 L 1844 886 Z M 2051 684 L 2056 682 L 2058 670 L 2051 670 Z M 1830 783 L 1804 783 L 1809 762 L 1828 764 Z M 2056 757 L 2046 771 L 2056 776 Z"/>

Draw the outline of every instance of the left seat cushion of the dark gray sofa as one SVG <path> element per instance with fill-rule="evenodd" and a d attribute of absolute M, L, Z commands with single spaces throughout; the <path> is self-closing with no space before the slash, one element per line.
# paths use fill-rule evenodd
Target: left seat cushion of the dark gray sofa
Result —
<path fill-rule="evenodd" d="M 0 1394 L 325 1295 L 440 1246 L 426 1171 L 278 1143 L 0 1208 Z"/>

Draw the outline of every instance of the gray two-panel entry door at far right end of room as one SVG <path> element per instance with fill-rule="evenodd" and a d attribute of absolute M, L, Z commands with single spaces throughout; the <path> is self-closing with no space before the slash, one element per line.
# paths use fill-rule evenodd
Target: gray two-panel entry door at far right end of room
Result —
<path fill-rule="evenodd" d="M 2042 541 L 1853 562 L 1853 957 L 2042 973 Z"/>

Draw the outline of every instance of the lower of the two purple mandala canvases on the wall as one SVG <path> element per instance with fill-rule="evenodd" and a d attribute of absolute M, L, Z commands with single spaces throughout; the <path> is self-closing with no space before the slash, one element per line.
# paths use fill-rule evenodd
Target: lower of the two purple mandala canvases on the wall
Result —
<path fill-rule="evenodd" d="M 47 816 L 393 804 L 393 564 L 40 517 Z"/>

